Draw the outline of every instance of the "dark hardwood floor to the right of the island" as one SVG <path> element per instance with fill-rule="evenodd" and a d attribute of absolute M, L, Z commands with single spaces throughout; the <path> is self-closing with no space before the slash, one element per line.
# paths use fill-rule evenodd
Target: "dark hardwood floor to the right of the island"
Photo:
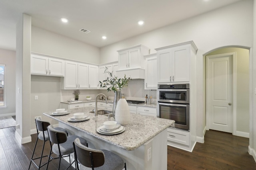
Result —
<path fill-rule="evenodd" d="M 168 146 L 168 170 L 256 170 L 248 138 L 210 130 L 204 140 L 193 152 Z"/>

